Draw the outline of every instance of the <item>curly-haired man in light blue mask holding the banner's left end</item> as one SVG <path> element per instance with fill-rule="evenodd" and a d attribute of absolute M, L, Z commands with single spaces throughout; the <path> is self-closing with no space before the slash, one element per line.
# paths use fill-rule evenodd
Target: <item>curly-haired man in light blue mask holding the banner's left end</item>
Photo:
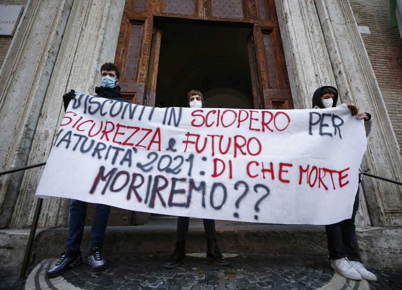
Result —
<path fill-rule="evenodd" d="M 130 102 L 125 100 L 120 93 L 118 68 L 111 62 L 104 63 L 100 67 L 102 76 L 100 87 L 95 88 L 97 97 L 116 100 L 121 102 Z M 74 97 L 74 90 L 71 90 L 63 96 L 64 110 Z M 82 263 L 80 246 L 82 242 L 82 233 L 85 224 L 87 203 L 73 199 L 70 204 L 70 224 L 66 248 L 62 253 L 56 265 L 47 271 L 48 277 L 57 277 L 68 269 Z M 89 246 L 88 263 L 92 266 L 94 272 L 106 268 L 106 260 L 102 256 L 102 246 L 105 239 L 106 225 L 108 224 L 110 205 L 96 204 L 95 216 L 91 227 L 91 244 Z"/>

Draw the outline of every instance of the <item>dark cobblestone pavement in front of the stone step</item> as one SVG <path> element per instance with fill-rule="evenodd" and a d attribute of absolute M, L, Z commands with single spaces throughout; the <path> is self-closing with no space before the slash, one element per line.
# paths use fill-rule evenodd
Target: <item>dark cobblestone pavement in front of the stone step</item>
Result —
<path fill-rule="evenodd" d="M 28 279 L 0 276 L 0 289 L 402 289 L 402 272 L 374 271 L 377 282 L 346 279 L 330 268 L 326 257 L 239 254 L 226 255 L 227 267 L 187 254 L 179 267 L 165 269 L 170 254 L 108 256 L 108 268 L 93 273 L 87 264 L 48 279 L 44 273 L 56 262 L 44 260 Z M 25 282 L 25 283 L 24 283 Z"/>

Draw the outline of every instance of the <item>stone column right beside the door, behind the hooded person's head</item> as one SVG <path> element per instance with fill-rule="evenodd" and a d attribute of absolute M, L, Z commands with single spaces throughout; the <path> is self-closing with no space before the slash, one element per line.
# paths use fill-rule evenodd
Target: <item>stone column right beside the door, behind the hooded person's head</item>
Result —
<path fill-rule="evenodd" d="M 295 109 L 311 109 L 314 91 L 335 86 L 313 1 L 275 0 Z"/>

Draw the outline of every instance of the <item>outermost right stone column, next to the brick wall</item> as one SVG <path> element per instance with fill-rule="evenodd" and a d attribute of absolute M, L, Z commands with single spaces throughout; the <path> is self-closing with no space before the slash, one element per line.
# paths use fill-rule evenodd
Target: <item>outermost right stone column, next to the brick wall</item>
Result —
<path fill-rule="evenodd" d="M 316 0 L 336 85 L 344 103 L 373 116 L 363 170 L 402 180 L 395 134 L 348 0 Z M 373 226 L 402 226 L 402 190 L 378 179 L 363 179 Z"/>

